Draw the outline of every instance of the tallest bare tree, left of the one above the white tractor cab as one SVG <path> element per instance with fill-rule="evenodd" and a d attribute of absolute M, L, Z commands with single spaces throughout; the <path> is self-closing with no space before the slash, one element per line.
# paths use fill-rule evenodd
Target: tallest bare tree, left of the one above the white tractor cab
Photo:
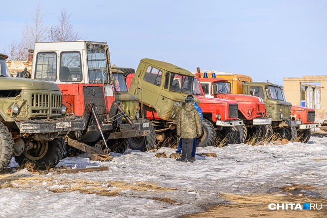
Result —
<path fill-rule="evenodd" d="M 49 26 L 44 24 L 45 13 L 41 12 L 40 0 L 36 2 L 34 11 L 31 15 L 32 22 L 26 23 L 24 29 L 24 40 L 26 41 L 27 48 L 34 49 L 36 42 L 41 42 L 46 39 L 46 33 Z"/>

